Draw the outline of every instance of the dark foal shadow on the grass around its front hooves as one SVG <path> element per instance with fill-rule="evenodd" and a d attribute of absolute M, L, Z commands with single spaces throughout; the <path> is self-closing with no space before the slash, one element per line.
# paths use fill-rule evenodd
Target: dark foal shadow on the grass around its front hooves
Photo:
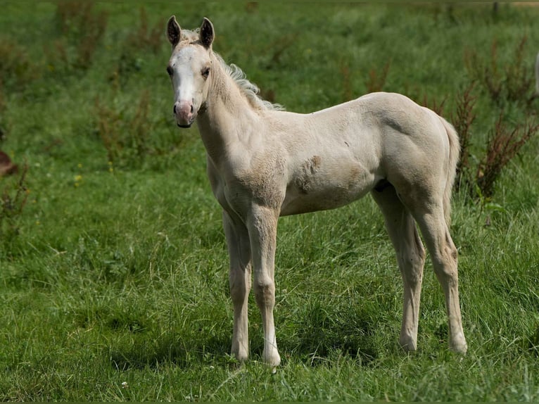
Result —
<path fill-rule="evenodd" d="M 297 320 L 297 319 L 296 319 Z M 288 327 L 293 329 L 288 336 L 279 341 L 281 358 L 296 357 L 308 366 L 330 363 L 338 357 L 354 360 L 360 366 L 370 366 L 379 357 L 376 346 L 376 327 L 368 318 L 334 317 L 333 320 L 308 316 Z M 289 320 L 291 321 L 291 320 Z M 256 327 L 256 326 L 253 326 Z M 175 365 L 189 368 L 196 364 L 237 365 L 229 355 L 231 335 L 229 329 L 223 329 L 213 336 L 189 333 L 185 336 L 170 331 L 159 338 L 151 333 L 138 332 L 132 343 L 110 348 L 110 365 L 116 370 L 157 368 L 162 365 Z M 259 330 L 252 330 L 250 342 L 251 360 L 261 361 L 264 341 Z"/>

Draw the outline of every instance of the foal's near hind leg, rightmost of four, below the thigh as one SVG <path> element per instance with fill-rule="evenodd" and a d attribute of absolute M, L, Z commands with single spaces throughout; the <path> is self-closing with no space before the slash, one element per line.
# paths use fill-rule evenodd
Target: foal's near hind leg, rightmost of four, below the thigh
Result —
<path fill-rule="evenodd" d="M 436 201 L 439 200 L 439 203 Z M 449 234 L 443 213 L 442 198 L 421 198 L 414 203 L 414 217 L 431 254 L 434 272 L 445 294 L 449 322 L 449 346 L 452 351 L 466 353 L 467 343 L 462 329 L 459 304 L 457 248 Z"/>

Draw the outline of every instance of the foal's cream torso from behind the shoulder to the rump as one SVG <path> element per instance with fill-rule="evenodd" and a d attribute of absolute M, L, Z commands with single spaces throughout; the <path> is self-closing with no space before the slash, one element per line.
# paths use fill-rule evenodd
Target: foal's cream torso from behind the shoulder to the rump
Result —
<path fill-rule="evenodd" d="M 382 179 L 404 189 L 445 175 L 449 144 L 442 118 L 401 94 L 372 93 L 288 116 L 300 125 L 286 148 L 289 180 L 281 214 L 342 206 Z"/>

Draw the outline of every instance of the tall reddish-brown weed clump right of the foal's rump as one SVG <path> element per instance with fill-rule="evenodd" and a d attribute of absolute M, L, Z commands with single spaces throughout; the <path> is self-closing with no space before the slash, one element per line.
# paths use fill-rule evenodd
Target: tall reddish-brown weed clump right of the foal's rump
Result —
<path fill-rule="evenodd" d="M 509 129 L 504 122 L 508 108 L 519 106 L 528 113 L 535 94 L 533 92 L 533 69 L 524 61 L 527 37 L 524 36 L 513 49 L 511 62 L 501 66 L 498 60 L 498 46 L 494 40 L 490 46 L 490 59 L 482 61 L 475 51 L 464 53 L 464 63 L 472 77 L 467 89 L 457 97 L 455 128 L 459 132 L 462 155 L 457 167 L 459 181 L 457 189 L 464 186 L 469 194 L 488 201 L 494 194 L 495 182 L 519 150 L 539 130 L 539 125 L 531 122 L 518 124 Z M 474 107 L 476 96 L 472 95 L 476 83 L 481 85 L 490 100 L 497 106 L 498 118 L 489 131 L 486 152 L 479 160 L 475 175 L 470 166 L 471 126 L 476 118 Z"/>

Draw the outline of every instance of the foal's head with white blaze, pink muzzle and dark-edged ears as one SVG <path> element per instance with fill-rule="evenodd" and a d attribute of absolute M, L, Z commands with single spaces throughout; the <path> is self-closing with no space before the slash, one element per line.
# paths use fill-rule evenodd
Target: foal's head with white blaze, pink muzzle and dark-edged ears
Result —
<path fill-rule="evenodd" d="M 172 44 L 167 72 L 174 89 L 174 115 L 179 127 L 190 127 L 208 96 L 213 25 L 204 18 L 198 32 L 181 30 L 172 15 L 167 35 Z"/>

